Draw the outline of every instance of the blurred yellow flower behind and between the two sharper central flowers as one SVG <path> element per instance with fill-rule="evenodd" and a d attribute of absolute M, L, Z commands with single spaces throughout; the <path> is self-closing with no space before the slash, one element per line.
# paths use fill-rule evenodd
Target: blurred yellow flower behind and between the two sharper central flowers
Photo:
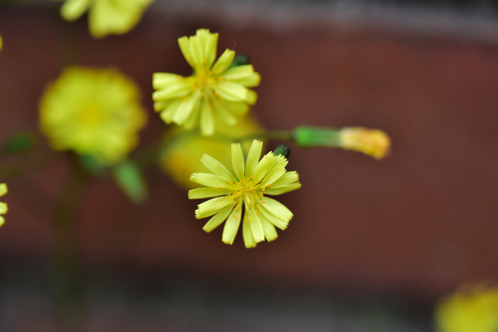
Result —
<path fill-rule="evenodd" d="M 248 115 L 242 116 L 233 126 L 223 125 L 223 121 L 217 117 L 215 123 L 219 130 L 213 136 L 202 136 L 197 131 L 185 130 L 182 127 L 171 128 L 166 135 L 164 149 L 160 155 L 160 165 L 178 185 L 187 189 L 198 187 L 199 185 L 189 178 L 192 173 L 207 171 L 201 163 L 204 153 L 224 165 L 230 164 L 231 142 L 262 130 L 261 126 Z M 250 145 L 251 142 L 247 140 L 242 143 L 245 153 L 249 151 Z"/>

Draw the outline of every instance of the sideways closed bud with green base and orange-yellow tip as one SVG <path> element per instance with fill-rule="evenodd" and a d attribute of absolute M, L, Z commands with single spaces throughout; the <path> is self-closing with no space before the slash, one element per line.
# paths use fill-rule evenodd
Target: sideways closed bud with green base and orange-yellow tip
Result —
<path fill-rule="evenodd" d="M 293 138 L 302 147 L 341 147 L 365 153 L 375 159 L 385 157 L 390 147 L 390 139 L 385 132 L 363 127 L 335 129 L 301 126 L 294 129 Z"/>

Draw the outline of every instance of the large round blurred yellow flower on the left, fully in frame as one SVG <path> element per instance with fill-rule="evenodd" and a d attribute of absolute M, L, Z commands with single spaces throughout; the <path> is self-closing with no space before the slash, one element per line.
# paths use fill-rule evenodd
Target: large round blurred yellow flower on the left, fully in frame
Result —
<path fill-rule="evenodd" d="M 115 69 L 71 67 L 45 90 L 40 129 L 55 150 L 120 161 L 146 120 L 136 85 Z"/>

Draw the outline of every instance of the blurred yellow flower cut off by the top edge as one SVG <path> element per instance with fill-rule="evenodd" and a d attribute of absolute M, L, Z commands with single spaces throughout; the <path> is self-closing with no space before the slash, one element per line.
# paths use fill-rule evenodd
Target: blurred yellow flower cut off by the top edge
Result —
<path fill-rule="evenodd" d="M 153 0 L 65 0 L 61 16 L 74 21 L 88 10 L 88 26 L 95 38 L 131 30 Z"/>

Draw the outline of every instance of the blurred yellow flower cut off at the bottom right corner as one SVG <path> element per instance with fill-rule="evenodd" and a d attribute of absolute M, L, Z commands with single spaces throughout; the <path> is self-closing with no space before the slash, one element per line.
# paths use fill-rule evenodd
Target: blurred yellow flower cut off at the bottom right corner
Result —
<path fill-rule="evenodd" d="M 498 288 L 478 286 L 443 299 L 436 325 L 439 332 L 497 332 Z"/>

